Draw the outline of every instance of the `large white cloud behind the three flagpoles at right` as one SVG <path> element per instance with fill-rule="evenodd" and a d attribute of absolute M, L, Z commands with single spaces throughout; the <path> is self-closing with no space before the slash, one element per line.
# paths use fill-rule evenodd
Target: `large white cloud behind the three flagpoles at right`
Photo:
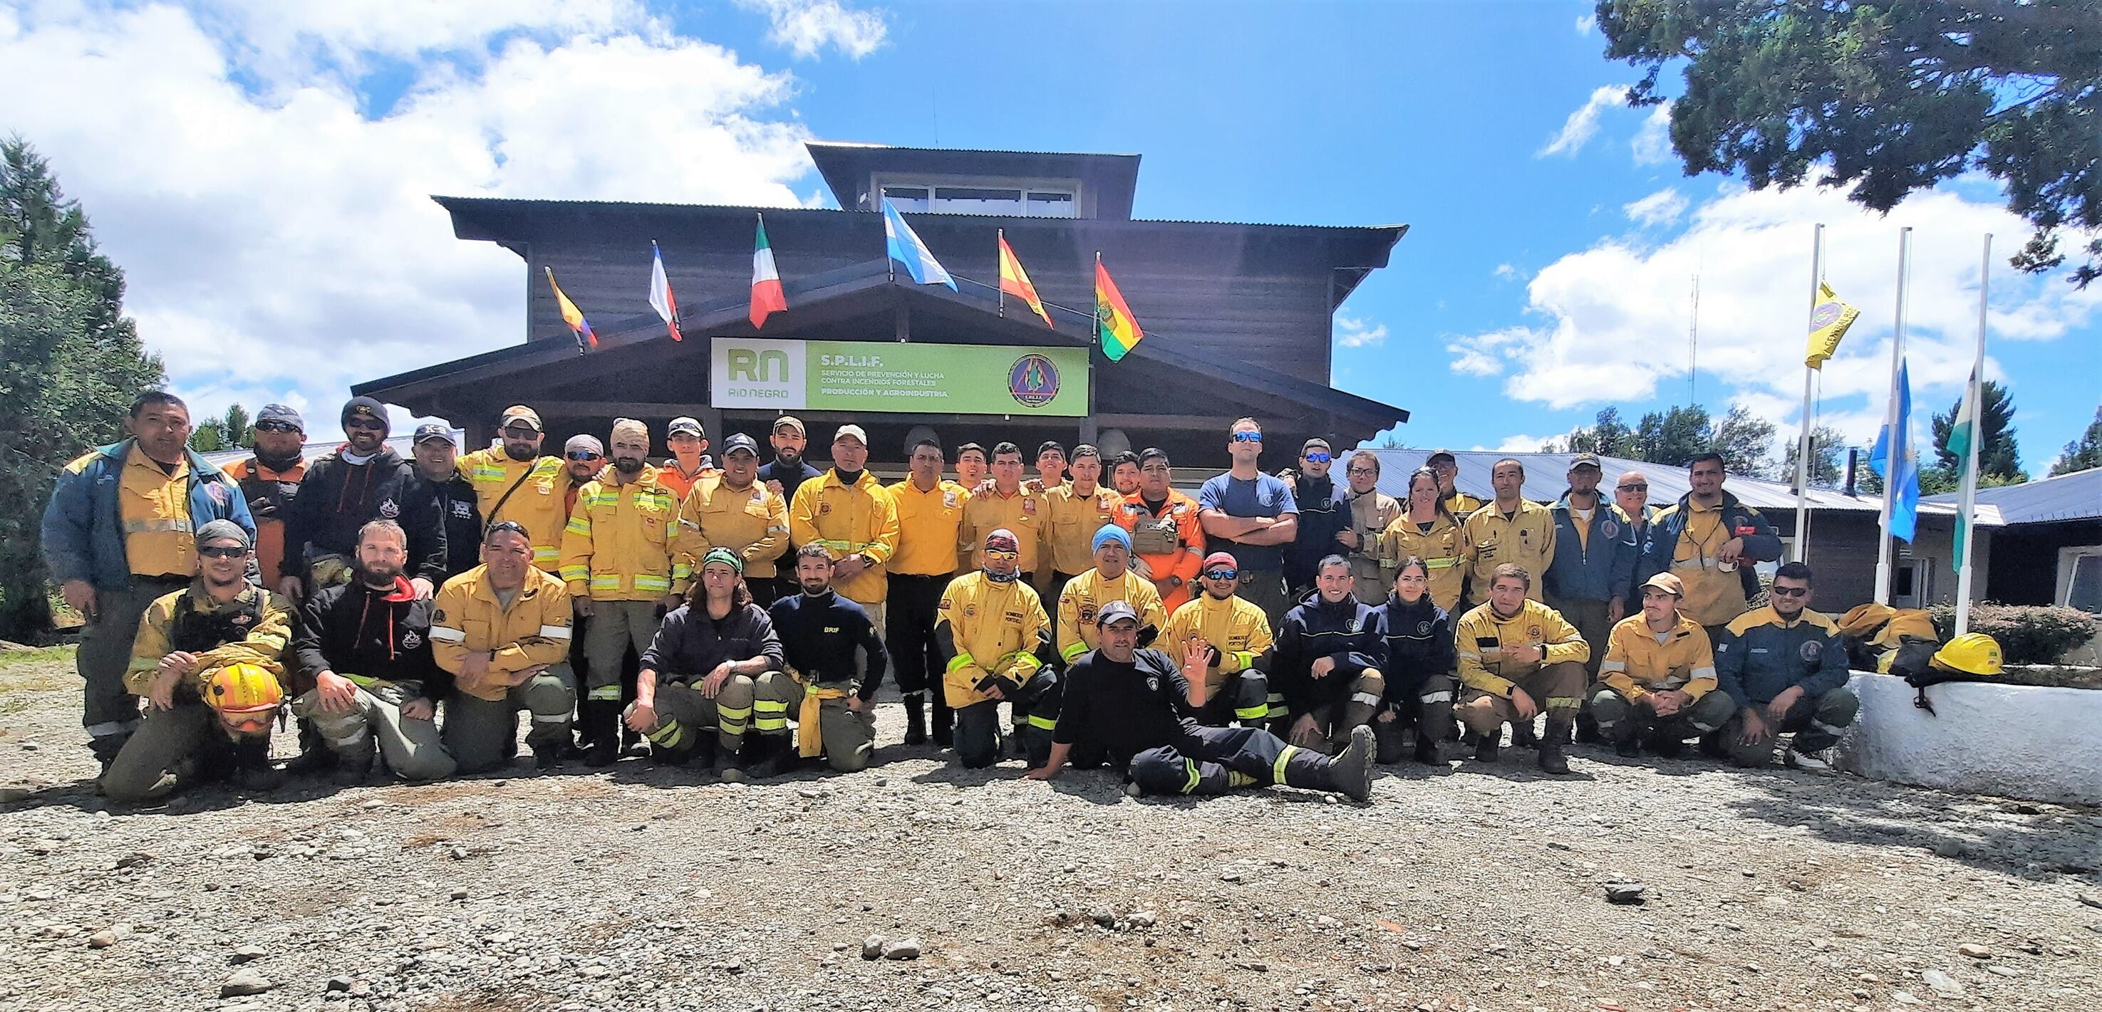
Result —
<path fill-rule="evenodd" d="M 2026 235 L 1993 199 L 1949 191 L 1915 195 L 1888 218 L 1839 191 L 1724 187 L 1669 244 L 1602 239 L 1562 256 L 1528 286 L 1537 323 L 1457 338 L 1452 372 L 1505 376 L 1503 393 L 1551 407 L 1644 401 L 1661 382 L 1686 380 L 1688 283 L 1701 273 L 1701 388 L 1719 378 L 1732 399 L 1793 426 L 1801 403 L 1812 223 L 1825 223 L 1825 277 L 1862 315 L 1825 365 L 1825 422 L 1850 439 L 1873 437 L 1890 384 L 1896 304 L 1896 235 L 1913 225 L 1907 357 L 1915 403 L 1953 397 L 1976 340 L 1978 241 Z M 1988 340 L 2052 340 L 2098 317 L 2102 290 L 2060 275 L 2018 275 L 2001 239 L 1993 271 Z M 1703 258 L 1703 252 L 1709 256 Z M 1988 359 L 1988 372 L 1997 363 Z"/>

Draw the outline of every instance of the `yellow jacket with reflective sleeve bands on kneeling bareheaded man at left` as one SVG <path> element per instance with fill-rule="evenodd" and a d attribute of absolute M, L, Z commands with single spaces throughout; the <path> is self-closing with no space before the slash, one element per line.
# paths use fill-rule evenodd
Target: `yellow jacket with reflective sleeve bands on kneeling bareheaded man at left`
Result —
<path fill-rule="evenodd" d="M 460 674 L 469 653 L 490 655 L 486 682 Z M 570 657 L 570 590 L 534 569 L 507 609 L 490 586 L 490 567 L 477 565 L 437 588 L 431 657 L 462 693 L 498 701 L 511 691 L 507 676 Z"/>

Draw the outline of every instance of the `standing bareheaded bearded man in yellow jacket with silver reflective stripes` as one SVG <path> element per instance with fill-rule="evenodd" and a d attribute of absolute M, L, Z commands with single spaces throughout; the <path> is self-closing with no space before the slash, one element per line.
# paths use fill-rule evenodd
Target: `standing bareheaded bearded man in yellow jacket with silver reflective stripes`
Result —
<path fill-rule="evenodd" d="M 561 579 L 584 626 L 584 697 L 578 699 L 586 766 L 620 758 L 620 661 L 650 649 L 658 621 L 679 607 L 692 563 L 679 537 L 679 496 L 650 466 L 650 428 L 616 418 L 614 466 L 576 493 L 561 533 Z"/>

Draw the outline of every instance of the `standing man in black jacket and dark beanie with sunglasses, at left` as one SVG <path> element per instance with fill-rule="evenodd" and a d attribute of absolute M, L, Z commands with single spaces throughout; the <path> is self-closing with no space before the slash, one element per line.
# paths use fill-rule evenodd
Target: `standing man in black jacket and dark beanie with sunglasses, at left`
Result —
<path fill-rule="evenodd" d="M 280 584 L 292 600 L 351 579 L 357 531 L 395 521 L 408 531 L 410 584 L 431 596 L 446 582 L 446 527 L 435 504 L 416 502 L 416 470 L 387 445 L 387 405 L 353 397 L 343 405 L 345 443 L 307 466 L 286 510 L 284 548 L 301 561 Z"/>

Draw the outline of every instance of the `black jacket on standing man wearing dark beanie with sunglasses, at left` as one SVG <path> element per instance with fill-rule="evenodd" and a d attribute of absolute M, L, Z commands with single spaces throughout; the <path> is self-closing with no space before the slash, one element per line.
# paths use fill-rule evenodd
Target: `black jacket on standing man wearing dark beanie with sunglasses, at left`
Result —
<path fill-rule="evenodd" d="M 315 554 L 355 558 L 359 527 L 395 521 L 408 533 L 408 575 L 444 584 L 446 527 L 435 504 L 410 496 L 414 485 L 414 464 L 391 447 L 380 447 L 364 464 L 343 460 L 341 447 L 307 464 L 298 498 L 284 516 L 286 569 L 305 577 Z"/>

